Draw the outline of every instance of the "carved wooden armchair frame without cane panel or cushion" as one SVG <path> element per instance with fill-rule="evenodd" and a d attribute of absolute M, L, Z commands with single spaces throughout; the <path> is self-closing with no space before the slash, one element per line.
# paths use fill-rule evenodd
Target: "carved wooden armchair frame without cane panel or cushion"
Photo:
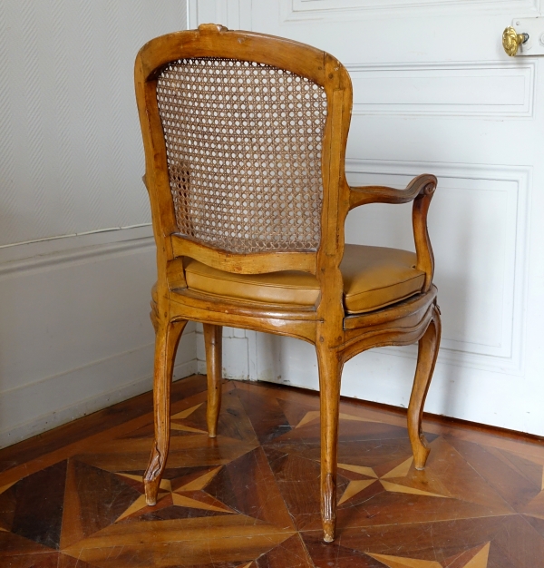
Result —
<path fill-rule="evenodd" d="M 322 145 L 323 209 L 321 240 L 315 251 L 233 254 L 180 235 L 170 191 L 167 152 L 157 103 L 157 81 L 170 62 L 184 57 L 221 57 L 268 64 L 302 75 L 325 89 L 327 116 Z M 423 404 L 440 343 L 441 323 L 432 285 L 433 257 L 427 211 L 436 178 L 421 175 L 406 187 L 349 187 L 345 145 L 352 109 L 352 84 L 345 67 L 330 54 L 287 39 L 228 31 L 216 24 L 168 34 L 145 44 L 135 64 L 135 86 L 145 148 L 144 181 L 150 194 L 157 244 L 158 280 L 152 291 L 156 330 L 154 362 L 155 441 L 144 476 L 148 504 L 155 504 L 170 443 L 170 382 L 183 328 L 189 320 L 204 326 L 208 370 L 209 436 L 217 433 L 221 380 L 221 327 L 247 328 L 300 338 L 316 347 L 321 408 L 321 512 L 324 538 L 335 538 L 336 462 L 340 379 L 345 361 L 366 349 L 419 342 L 408 408 L 414 465 L 423 469 L 429 448 L 422 434 Z M 345 217 L 366 203 L 413 201 L 417 269 L 425 273 L 421 292 L 393 306 L 346 315 L 339 266 L 344 254 Z M 308 307 L 226 302 L 187 288 L 183 257 L 239 274 L 304 270 L 316 276 L 320 295 Z"/>

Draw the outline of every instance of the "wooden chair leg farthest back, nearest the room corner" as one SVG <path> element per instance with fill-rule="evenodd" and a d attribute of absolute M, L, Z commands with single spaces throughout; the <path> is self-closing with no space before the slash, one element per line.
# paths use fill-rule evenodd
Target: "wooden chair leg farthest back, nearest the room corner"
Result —
<path fill-rule="evenodd" d="M 221 326 L 203 324 L 206 343 L 206 371 L 208 373 L 208 432 L 210 438 L 218 435 L 219 410 L 221 409 L 222 330 Z"/>

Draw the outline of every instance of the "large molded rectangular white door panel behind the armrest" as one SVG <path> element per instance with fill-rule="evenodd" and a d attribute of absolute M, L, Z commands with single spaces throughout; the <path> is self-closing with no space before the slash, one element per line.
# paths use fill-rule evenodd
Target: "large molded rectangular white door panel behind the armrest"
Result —
<path fill-rule="evenodd" d="M 423 171 L 438 177 L 439 189 L 432 203 L 429 226 L 437 260 L 434 280 L 442 291 L 441 360 L 462 367 L 520 374 L 532 168 L 346 160 L 345 171 L 357 184 L 384 183 L 399 188 Z M 372 227 L 369 233 L 374 234 L 374 239 L 391 240 L 368 241 L 361 229 L 364 223 L 372 223 L 376 218 L 385 227 L 394 226 L 393 215 L 397 211 L 391 206 L 382 207 L 378 216 L 375 211 L 365 213 L 364 208 L 360 213 L 350 213 L 355 213 L 356 219 L 348 217 L 346 241 L 353 242 L 354 235 L 359 234 L 366 244 L 413 249 L 411 235 L 402 230 L 391 237 L 380 235 Z M 398 214 L 405 217 L 406 211 Z M 384 220 L 386 215 L 392 218 Z M 433 226 L 433 219 L 439 224 Z M 463 235 L 470 246 L 463 245 Z M 410 349 L 387 350 L 402 357 L 415 356 Z"/>

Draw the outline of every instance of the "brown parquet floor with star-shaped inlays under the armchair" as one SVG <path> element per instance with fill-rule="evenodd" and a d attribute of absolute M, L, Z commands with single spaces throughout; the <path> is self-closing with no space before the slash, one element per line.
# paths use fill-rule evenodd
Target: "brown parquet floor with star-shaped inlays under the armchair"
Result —
<path fill-rule="evenodd" d="M 205 389 L 199 376 L 174 386 L 154 507 L 149 395 L 0 451 L 0 565 L 544 567 L 542 443 L 431 420 L 417 472 L 402 414 L 345 401 L 339 534 L 324 544 L 318 397 L 226 382 L 210 440 Z"/>

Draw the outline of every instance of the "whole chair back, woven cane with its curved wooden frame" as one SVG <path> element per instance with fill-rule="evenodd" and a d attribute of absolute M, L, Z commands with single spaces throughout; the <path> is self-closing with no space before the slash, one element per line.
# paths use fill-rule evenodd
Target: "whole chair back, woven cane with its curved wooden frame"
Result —
<path fill-rule="evenodd" d="M 351 111 L 342 64 L 206 25 L 144 45 L 135 83 L 160 264 L 189 256 L 241 274 L 303 270 L 324 286 L 342 278 Z"/>

